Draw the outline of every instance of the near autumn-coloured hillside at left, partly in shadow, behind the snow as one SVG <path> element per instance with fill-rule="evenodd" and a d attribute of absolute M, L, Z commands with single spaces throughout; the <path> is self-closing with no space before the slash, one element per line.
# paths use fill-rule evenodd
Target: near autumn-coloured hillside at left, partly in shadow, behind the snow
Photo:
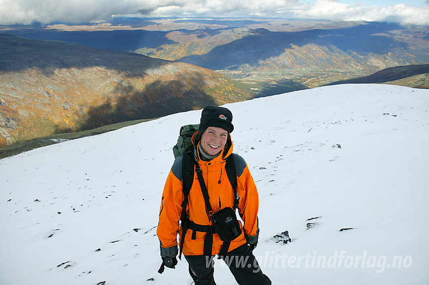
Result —
<path fill-rule="evenodd" d="M 0 147 L 253 96 L 187 63 L 0 34 Z"/>

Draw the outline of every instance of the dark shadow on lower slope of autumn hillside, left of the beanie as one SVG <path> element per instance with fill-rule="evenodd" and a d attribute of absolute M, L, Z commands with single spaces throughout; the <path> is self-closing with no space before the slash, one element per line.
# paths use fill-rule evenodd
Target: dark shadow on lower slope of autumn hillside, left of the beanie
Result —
<path fill-rule="evenodd" d="M 202 80 L 204 75 L 195 74 L 196 80 Z M 200 79 L 199 79 L 200 78 Z M 172 80 L 169 82 L 154 81 L 147 84 L 145 90 L 136 90 L 134 86 L 120 82 L 114 94 L 120 94 L 114 103 L 111 97 L 91 106 L 86 118 L 75 129 L 55 126 L 55 133 L 81 131 L 120 122 L 162 117 L 178 112 L 201 109 L 216 102 L 202 89 L 190 88 L 184 82 Z"/>

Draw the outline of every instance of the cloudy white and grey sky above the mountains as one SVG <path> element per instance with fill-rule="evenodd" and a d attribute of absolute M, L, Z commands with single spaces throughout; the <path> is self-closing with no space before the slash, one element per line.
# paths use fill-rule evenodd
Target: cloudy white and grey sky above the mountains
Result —
<path fill-rule="evenodd" d="M 287 17 L 429 25 L 429 0 L 0 0 L 0 25 L 100 21 L 138 14 Z"/>

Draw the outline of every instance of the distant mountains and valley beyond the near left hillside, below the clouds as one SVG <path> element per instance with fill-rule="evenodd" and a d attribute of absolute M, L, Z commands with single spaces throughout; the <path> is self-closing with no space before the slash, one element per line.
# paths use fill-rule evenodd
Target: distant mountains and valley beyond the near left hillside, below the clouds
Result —
<path fill-rule="evenodd" d="M 392 23 L 116 18 L 9 32 L 187 62 L 281 92 L 429 63 L 429 28 Z"/>

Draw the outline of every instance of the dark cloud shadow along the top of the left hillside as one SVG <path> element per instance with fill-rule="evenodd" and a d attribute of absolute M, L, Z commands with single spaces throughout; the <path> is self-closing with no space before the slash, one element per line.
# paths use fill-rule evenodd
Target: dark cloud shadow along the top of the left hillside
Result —
<path fill-rule="evenodd" d="M 170 62 L 136 53 L 0 34 L 0 71 L 4 72 L 37 68 L 43 75 L 50 76 L 61 68 L 104 66 L 127 77 L 135 77 L 144 75 L 149 68 Z"/>

